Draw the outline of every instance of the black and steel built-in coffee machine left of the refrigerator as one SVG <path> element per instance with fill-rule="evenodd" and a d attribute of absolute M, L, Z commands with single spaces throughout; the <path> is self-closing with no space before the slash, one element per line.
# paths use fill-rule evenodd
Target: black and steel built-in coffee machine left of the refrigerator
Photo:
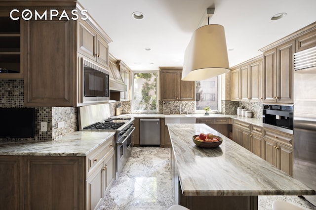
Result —
<path fill-rule="evenodd" d="M 264 127 L 293 134 L 293 105 L 263 104 L 262 108 Z"/>

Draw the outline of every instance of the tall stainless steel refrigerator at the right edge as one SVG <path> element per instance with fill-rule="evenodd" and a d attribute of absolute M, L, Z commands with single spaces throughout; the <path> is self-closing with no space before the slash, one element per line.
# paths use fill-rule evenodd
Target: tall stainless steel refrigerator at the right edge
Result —
<path fill-rule="evenodd" d="M 294 54 L 294 178 L 316 190 L 316 48 L 314 58 L 305 53 Z"/>

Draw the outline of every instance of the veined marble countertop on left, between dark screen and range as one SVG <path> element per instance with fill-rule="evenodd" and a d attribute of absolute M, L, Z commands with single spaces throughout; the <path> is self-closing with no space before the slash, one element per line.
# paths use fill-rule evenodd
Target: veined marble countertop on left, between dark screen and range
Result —
<path fill-rule="evenodd" d="M 0 142 L 0 155 L 87 156 L 114 134 L 114 131 L 75 131 L 56 141 Z"/>

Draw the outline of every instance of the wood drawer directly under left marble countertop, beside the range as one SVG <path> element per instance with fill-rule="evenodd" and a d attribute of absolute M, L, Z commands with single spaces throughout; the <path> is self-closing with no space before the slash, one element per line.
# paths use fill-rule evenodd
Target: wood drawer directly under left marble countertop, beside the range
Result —
<path fill-rule="evenodd" d="M 112 150 L 114 150 L 114 136 L 87 155 L 88 173 L 90 173 L 95 166 L 101 163 L 106 154 Z"/>

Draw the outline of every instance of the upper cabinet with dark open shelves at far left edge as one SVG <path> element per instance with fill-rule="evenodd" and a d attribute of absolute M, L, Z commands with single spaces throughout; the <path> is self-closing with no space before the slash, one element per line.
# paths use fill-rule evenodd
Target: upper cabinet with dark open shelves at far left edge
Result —
<path fill-rule="evenodd" d="M 23 79 L 23 22 L 0 11 L 0 79 Z"/>

